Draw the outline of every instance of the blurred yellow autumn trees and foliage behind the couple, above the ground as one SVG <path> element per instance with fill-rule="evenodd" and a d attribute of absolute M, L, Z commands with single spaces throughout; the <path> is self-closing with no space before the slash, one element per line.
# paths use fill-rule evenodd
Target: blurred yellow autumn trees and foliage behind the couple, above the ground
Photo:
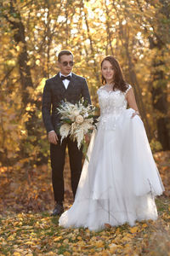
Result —
<path fill-rule="evenodd" d="M 48 162 L 42 89 L 71 49 L 73 72 L 88 80 L 94 105 L 100 61 L 114 55 L 133 85 L 154 152 L 170 150 L 168 0 L 1 0 L 0 161 L 15 170 Z"/>

